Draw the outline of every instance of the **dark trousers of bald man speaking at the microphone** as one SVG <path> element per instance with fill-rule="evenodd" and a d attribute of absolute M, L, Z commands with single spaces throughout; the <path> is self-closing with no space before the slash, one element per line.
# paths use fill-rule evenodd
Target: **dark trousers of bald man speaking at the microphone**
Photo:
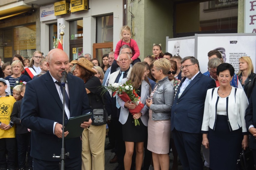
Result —
<path fill-rule="evenodd" d="M 33 169 L 35 170 L 59 170 L 59 161 L 46 161 L 33 158 Z M 76 158 L 65 159 L 65 170 L 81 170 L 82 168 L 82 156 Z"/>

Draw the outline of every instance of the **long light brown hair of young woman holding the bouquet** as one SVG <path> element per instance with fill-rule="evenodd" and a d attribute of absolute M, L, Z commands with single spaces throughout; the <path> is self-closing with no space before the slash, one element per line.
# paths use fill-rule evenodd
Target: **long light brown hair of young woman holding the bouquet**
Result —
<path fill-rule="evenodd" d="M 137 62 L 133 65 L 130 77 L 128 79 L 131 80 L 131 83 L 133 84 L 133 88 L 135 88 L 135 90 L 139 88 L 140 83 L 142 82 L 142 76 L 144 74 L 145 68 L 145 64 L 141 62 Z M 145 81 L 149 84 L 151 90 L 151 85 L 148 81 L 147 76 L 145 76 Z"/>

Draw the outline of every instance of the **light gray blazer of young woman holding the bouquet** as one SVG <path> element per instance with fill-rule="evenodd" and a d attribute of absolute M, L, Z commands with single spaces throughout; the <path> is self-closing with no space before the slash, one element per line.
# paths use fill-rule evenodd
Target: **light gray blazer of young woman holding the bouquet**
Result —
<path fill-rule="evenodd" d="M 122 83 L 125 83 L 128 79 L 122 79 Z M 146 105 L 146 99 L 149 94 L 149 84 L 145 81 L 142 80 L 141 83 L 141 102 Z M 124 102 L 118 95 L 117 95 L 117 102 L 119 105 L 121 105 L 122 102 Z M 141 121 L 145 126 L 148 126 L 148 107 L 142 108 L 144 115 L 142 115 Z M 119 117 L 119 122 L 122 124 L 125 124 L 129 115 L 129 109 L 124 108 L 124 106 L 121 106 L 121 111 L 120 111 L 120 117 Z"/>

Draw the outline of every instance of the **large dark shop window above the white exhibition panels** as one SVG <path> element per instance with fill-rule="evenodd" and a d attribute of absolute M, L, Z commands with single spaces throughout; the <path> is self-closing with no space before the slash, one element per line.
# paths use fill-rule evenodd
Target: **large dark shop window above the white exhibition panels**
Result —
<path fill-rule="evenodd" d="M 174 4 L 174 14 L 174 37 L 237 33 L 238 0 L 179 1 Z"/>

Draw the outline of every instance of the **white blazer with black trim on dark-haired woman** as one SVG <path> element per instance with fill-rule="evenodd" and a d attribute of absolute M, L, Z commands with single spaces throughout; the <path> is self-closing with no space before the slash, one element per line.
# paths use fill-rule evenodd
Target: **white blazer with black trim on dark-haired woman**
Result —
<path fill-rule="evenodd" d="M 209 127 L 215 129 L 216 123 L 216 103 L 218 99 L 218 88 L 207 90 L 202 133 L 207 133 Z M 242 132 L 246 132 L 245 127 L 245 110 L 248 106 L 248 100 L 244 90 L 232 87 L 230 95 L 227 100 L 227 121 L 229 122 L 230 131 L 237 130 L 242 127 Z"/>

